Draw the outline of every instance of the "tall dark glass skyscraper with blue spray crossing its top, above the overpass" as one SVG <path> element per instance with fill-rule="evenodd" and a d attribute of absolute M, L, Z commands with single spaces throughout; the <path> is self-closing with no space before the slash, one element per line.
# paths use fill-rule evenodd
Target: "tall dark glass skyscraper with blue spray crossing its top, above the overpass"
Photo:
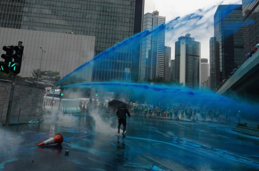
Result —
<path fill-rule="evenodd" d="M 242 5 L 219 5 L 214 14 L 213 61 L 218 87 L 238 63 L 244 61 Z"/>

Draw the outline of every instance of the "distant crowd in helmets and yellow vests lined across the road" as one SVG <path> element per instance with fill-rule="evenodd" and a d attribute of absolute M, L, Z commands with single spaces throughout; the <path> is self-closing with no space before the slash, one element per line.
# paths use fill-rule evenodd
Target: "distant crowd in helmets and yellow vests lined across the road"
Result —
<path fill-rule="evenodd" d="M 240 110 L 235 112 L 233 110 L 226 109 L 225 111 L 220 110 L 219 108 L 190 108 L 183 106 L 171 106 L 171 107 L 163 107 L 161 105 L 145 105 L 130 103 L 129 104 L 129 112 L 133 115 L 146 115 L 155 116 L 155 117 L 167 117 L 167 118 L 196 118 L 196 116 L 201 116 L 202 119 L 218 119 L 220 115 L 225 115 L 226 121 L 230 121 L 231 117 L 236 117 L 238 122 L 241 120 L 241 112 Z M 108 108 L 108 103 L 105 101 L 97 102 L 97 100 L 90 100 L 88 103 L 80 101 L 80 109 L 81 111 L 88 112 L 94 108 L 99 108 L 105 110 L 107 113 L 110 113 Z"/>

